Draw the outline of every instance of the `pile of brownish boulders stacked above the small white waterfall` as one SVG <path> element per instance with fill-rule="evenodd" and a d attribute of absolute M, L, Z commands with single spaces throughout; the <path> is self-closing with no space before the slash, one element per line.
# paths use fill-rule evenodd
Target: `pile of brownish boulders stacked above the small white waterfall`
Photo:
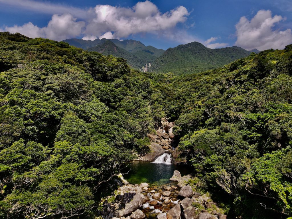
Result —
<path fill-rule="evenodd" d="M 174 138 L 172 132 L 174 123 L 168 122 L 166 118 L 161 119 L 161 128 L 156 130 L 156 134 L 149 134 L 148 137 L 152 142 L 160 145 L 164 150 L 172 150 L 171 140 Z"/>

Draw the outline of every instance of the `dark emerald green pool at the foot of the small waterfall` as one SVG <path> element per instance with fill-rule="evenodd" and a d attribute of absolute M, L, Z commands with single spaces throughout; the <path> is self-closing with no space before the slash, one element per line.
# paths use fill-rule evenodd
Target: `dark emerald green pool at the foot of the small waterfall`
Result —
<path fill-rule="evenodd" d="M 171 183 L 169 178 L 172 177 L 174 170 L 180 171 L 182 175 L 190 173 L 190 168 L 179 167 L 174 164 L 132 161 L 127 168 L 129 173 L 123 176 L 131 184 L 149 183 L 163 185 Z"/>

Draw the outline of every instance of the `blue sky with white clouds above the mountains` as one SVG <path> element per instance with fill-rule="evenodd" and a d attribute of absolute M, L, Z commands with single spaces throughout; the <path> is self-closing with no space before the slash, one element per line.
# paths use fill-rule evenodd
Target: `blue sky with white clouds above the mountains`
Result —
<path fill-rule="evenodd" d="M 61 41 L 134 39 L 167 49 L 283 49 L 292 44 L 292 0 L 0 0 L 0 32 Z"/>

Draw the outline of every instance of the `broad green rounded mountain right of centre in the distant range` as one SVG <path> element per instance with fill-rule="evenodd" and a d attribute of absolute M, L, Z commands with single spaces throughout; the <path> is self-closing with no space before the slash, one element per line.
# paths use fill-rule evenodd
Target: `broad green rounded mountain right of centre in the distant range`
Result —
<path fill-rule="evenodd" d="M 250 54 L 240 47 L 210 49 L 198 42 L 169 48 L 157 58 L 150 71 L 174 74 L 202 72 L 222 67 Z"/>

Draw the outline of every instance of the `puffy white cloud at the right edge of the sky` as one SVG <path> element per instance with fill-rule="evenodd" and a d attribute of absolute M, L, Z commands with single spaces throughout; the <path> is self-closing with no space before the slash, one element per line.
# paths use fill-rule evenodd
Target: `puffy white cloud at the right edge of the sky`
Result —
<path fill-rule="evenodd" d="M 246 50 L 283 49 L 292 43 L 291 29 L 274 30 L 275 25 L 283 20 L 280 15 L 272 17 L 269 10 L 258 11 L 251 20 L 245 16 L 241 17 L 235 25 L 237 35 L 235 44 Z"/>

